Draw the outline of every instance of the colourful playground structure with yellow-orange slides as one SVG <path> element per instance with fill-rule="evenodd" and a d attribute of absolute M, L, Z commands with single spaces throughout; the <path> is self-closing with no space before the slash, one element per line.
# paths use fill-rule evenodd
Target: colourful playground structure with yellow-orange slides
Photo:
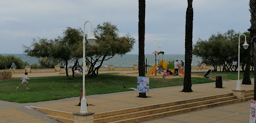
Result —
<path fill-rule="evenodd" d="M 153 67 L 151 67 L 152 66 L 152 63 L 153 63 L 153 60 L 147 60 L 146 59 L 146 71 L 147 71 L 147 74 L 146 74 L 146 76 L 150 76 L 151 74 L 157 74 L 157 70 L 158 70 L 158 74 L 160 74 L 163 70 L 169 70 L 169 71 L 172 71 L 173 73 L 174 73 L 174 65 L 171 65 L 171 64 L 169 64 L 168 65 L 168 60 L 169 59 L 167 59 L 167 61 L 166 60 L 164 60 L 164 54 L 165 54 L 165 52 L 162 52 L 162 51 L 155 51 L 155 52 L 153 52 L 152 54 L 155 54 L 155 62 L 154 62 L 154 66 Z M 162 54 L 162 59 L 160 59 L 160 56 L 159 56 L 159 59 L 158 60 L 156 60 L 156 54 L 159 56 L 160 54 Z M 149 61 L 149 62 L 148 62 Z M 157 61 L 157 62 L 156 62 Z M 150 65 L 149 65 L 149 63 L 150 63 Z M 182 69 L 180 69 L 180 64 L 179 64 L 179 69 L 178 69 L 178 71 L 182 74 L 182 75 L 185 75 L 185 72 L 182 70 Z M 149 69 L 150 68 L 150 70 L 147 70 L 147 69 Z"/>

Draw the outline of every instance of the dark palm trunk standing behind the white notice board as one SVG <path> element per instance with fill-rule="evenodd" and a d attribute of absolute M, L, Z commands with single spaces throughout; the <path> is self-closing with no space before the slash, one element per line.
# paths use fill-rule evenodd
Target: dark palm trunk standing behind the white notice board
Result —
<path fill-rule="evenodd" d="M 146 1 L 138 0 L 138 75 L 145 76 L 145 10 Z M 138 97 L 147 97 L 139 93 Z"/>

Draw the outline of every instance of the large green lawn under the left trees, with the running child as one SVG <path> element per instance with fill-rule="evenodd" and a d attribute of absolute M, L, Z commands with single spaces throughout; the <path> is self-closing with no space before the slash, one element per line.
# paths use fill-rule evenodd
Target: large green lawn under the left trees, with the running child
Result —
<path fill-rule="evenodd" d="M 79 89 L 82 88 L 82 75 L 76 75 L 74 79 L 69 80 L 65 76 L 29 78 L 30 90 L 26 90 L 26 85 L 16 90 L 16 87 L 21 84 L 20 78 L 0 80 L 0 100 L 30 103 L 76 97 L 79 96 Z M 130 91 L 131 89 L 128 88 L 137 88 L 136 80 L 137 77 L 132 76 L 99 74 L 98 77 L 86 79 L 86 95 Z M 214 82 L 214 80 L 192 77 L 192 84 L 211 82 Z M 123 88 L 124 85 L 127 88 Z M 183 85 L 183 78 L 150 78 L 151 89 L 180 85 Z M 61 97 L 55 97 L 55 95 L 61 95 Z"/>

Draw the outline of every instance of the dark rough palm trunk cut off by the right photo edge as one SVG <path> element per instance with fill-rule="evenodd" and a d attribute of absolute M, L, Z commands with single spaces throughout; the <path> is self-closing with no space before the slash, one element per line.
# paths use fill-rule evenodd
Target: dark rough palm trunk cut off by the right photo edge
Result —
<path fill-rule="evenodd" d="M 250 0 L 249 6 L 250 6 L 250 12 L 251 12 L 251 27 L 248 29 L 250 31 L 250 39 L 249 42 L 251 42 L 251 46 L 254 47 L 256 45 L 256 0 Z M 254 58 L 254 68 L 256 66 L 256 47 L 251 48 L 253 50 L 253 58 Z M 256 78 L 256 70 L 254 69 L 254 78 Z M 254 100 L 256 100 L 256 79 L 254 79 Z"/>

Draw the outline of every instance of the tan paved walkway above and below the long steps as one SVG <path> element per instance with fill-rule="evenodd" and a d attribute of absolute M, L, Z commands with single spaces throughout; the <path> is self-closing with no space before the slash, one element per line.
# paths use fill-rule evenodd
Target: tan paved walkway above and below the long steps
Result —
<path fill-rule="evenodd" d="M 116 73 L 117 71 L 114 72 Z M 134 71 L 126 73 L 134 73 Z M 32 74 L 33 73 L 29 73 L 29 76 L 32 76 Z M 43 73 L 36 74 L 43 75 Z M 16 75 L 20 77 L 20 75 Z M 215 83 L 193 85 L 192 90 L 194 92 L 191 93 L 180 92 L 183 89 L 183 86 L 150 89 L 150 93 L 147 94 L 150 98 L 138 98 L 136 97 L 136 91 L 89 95 L 86 96 L 86 99 L 88 104 L 91 105 L 88 106 L 87 110 L 89 112 L 99 113 L 166 103 L 169 101 L 231 93 L 231 90 L 236 89 L 236 83 L 237 80 L 223 81 L 224 88 L 222 89 L 215 88 Z M 241 85 L 241 89 L 252 90 L 253 86 L 254 85 Z M 44 116 L 44 113 L 40 111 L 27 108 L 27 106 L 38 106 L 68 112 L 79 112 L 80 107 L 76 106 L 78 103 L 79 97 L 26 104 L 10 103 L 8 101 L 0 100 L 0 122 L 58 122 Z M 185 113 L 145 122 L 249 122 L 249 111 L 250 103 L 249 101 L 246 101 L 244 103 Z"/>

